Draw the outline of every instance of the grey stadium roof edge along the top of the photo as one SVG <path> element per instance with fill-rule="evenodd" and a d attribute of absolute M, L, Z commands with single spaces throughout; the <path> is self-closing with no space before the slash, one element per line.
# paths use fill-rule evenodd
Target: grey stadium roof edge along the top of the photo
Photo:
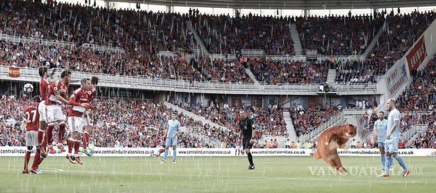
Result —
<path fill-rule="evenodd" d="M 238 9 L 369 9 L 434 6 L 436 0 L 109 0 L 170 6 Z"/>

